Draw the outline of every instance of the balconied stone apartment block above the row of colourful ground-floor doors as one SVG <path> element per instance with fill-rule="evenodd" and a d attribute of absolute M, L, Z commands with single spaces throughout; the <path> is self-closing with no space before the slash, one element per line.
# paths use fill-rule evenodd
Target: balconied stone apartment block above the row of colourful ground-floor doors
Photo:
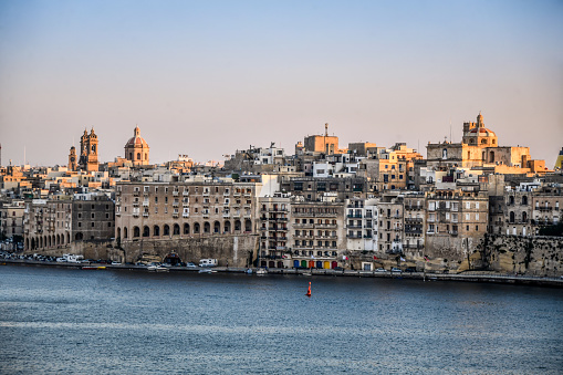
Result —
<path fill-rule="evenodd" d="M 334 269 L 342 265 L 346 249 L 344 202 L 300 201 L 291 204 L 289 267 Z M 345 258 L 345 257 L 344 257 Z"/>

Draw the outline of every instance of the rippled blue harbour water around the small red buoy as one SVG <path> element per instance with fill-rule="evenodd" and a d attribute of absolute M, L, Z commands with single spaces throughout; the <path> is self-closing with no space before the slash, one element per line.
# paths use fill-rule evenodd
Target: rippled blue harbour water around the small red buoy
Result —
<path fill-rule="evenodd" d="M 563 291 L 7 265 L 0 373 L 561 374 Z"/>

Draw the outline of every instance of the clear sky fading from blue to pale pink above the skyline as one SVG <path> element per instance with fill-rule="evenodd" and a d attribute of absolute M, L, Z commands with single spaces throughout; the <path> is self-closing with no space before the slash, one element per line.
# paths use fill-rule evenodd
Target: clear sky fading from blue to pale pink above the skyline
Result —
<path fill-rule="evenodd" d="M 0 1 L 2 165 L 101 162 L 137 124 L 150 162 L 350 142 L 563 147 L 563 1 Z"/>

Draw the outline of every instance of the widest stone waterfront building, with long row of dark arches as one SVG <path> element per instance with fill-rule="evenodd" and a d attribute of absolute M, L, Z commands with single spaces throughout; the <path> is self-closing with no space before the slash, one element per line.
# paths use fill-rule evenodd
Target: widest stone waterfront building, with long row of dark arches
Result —
<path fill-rule="evenodd" d="M 260 189 L 260 183 L 217 180 L 118 183 L 115 238 L 128 261 L 175 250 L 184 260 L 248 265 Z"/>

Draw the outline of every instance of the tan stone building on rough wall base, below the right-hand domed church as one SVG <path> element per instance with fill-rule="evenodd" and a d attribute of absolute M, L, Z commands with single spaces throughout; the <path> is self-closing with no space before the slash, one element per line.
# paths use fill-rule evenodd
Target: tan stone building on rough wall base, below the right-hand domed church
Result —
<path fill-rule="evenodd" d="M 487 233 L 489 199 L 482 191 L 435 190 L 426 196 L 426 256 L 462 260 Z"/>

